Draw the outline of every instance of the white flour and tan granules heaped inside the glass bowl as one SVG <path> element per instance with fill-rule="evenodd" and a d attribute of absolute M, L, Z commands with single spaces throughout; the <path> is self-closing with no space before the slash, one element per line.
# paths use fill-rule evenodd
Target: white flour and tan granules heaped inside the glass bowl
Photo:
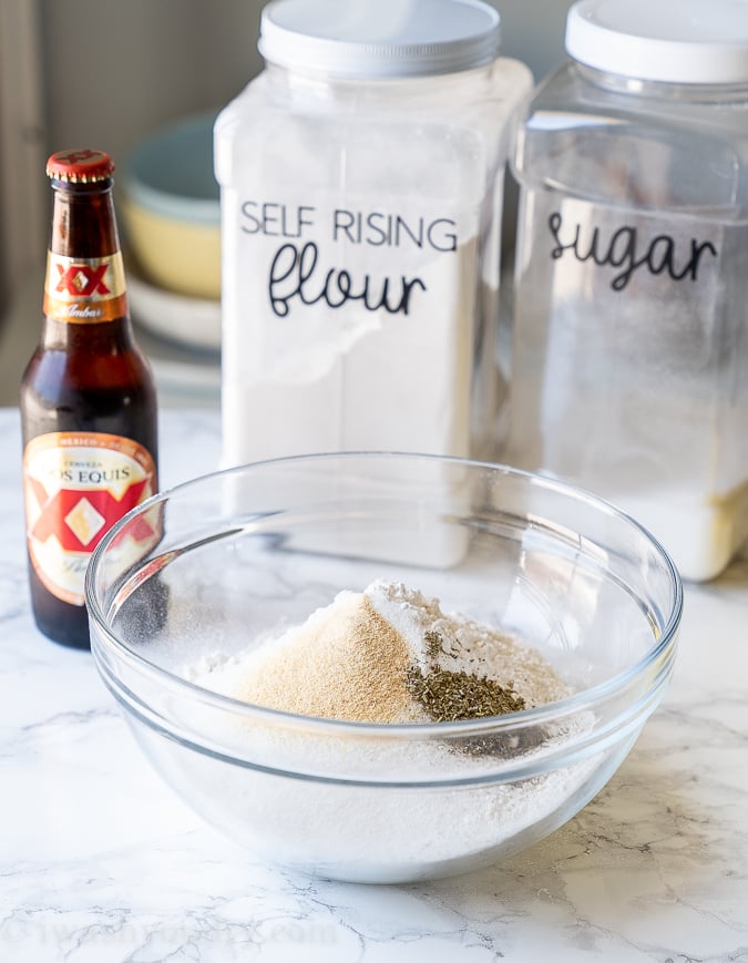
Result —
<path fill-rule="evenodd" d="M 356 650 L 367 627 L 379 633 L 380 659 L 366 647 Z M 262 698 L 305 715 L 430 721 L 432 706 L 403 683 L 408 670 L 426 678 L 436 672 L 439 682 L 460 674 L 493 678 L 527 708 L 571 694 L 539 653 L 385 582 L 362 593 L 342 592 L 304 625 L 244 655 L 203 659 L 187 677 L 234 698 Z M 591 726 L 591 714 L 577 713 L 539 724 L 526 744 L 511 735 L 448 742 L 409 739 L 401 729 L 388 738 L 387 726 L 378 727 L 377 737 L 369 729 L 320 735 L 281 720 L 270 726 L 243 719 L 233 724 L 232 744 L 244 740 L 250 767 L 222 762 L 195 778 L 221 793 L 223 828 L 274 861 L 336 879 L 423 879 L 491 862 L 584 805 L 603 757 L 550 771 L 543 760 Z M 518 767 L 524 778 L 501 781 Z"/>

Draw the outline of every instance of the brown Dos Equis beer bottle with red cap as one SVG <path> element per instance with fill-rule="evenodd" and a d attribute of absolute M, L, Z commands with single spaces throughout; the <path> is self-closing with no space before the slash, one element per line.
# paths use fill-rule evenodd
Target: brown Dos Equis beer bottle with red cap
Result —
<path fill-rule="evenodd" d="M 156 391 L 130 321 L 113 172 L 100 151 L 48 161 L 42 330 L 20 393 L 33 614 L 44 635 L 82 648 L 89 557 L 157 489 Z"/>

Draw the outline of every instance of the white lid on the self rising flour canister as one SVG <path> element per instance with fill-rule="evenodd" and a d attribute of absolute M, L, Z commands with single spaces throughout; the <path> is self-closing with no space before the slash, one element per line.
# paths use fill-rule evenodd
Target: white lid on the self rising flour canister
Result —
<path fill-rule="evenodd" d="M 348 78 L 429 76 L 490 63 L 499 14 L 481 0 L 271 0 L 265 60 Z"/>

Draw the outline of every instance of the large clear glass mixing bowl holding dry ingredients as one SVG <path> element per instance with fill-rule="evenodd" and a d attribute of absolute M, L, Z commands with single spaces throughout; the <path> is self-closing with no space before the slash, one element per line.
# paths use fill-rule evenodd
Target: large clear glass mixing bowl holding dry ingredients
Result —
<path fill-rule="evenodd" d="M 375 578 L 501 627 L 573 694 L 388 725 L 278 711 L 195 682 Z M 495 862 L 592 799 L 663 696 L 683 587 L 652 536 L 590 494 L 501 465 L 348 453 L 156 495 L 96 547 L 86 604 L 106 686 L 207 822 L 287 868 L 404 882 Z"/>

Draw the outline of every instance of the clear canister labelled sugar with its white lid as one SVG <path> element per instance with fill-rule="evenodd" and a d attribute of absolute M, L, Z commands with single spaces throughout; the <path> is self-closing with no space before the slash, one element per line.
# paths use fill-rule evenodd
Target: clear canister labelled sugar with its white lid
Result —
<path fill-rule="evenodd" d="M 566 50 L 516 135 L 503 455 L 707 580 L 748 532 L 748 4 L 581 0 Z"/>

